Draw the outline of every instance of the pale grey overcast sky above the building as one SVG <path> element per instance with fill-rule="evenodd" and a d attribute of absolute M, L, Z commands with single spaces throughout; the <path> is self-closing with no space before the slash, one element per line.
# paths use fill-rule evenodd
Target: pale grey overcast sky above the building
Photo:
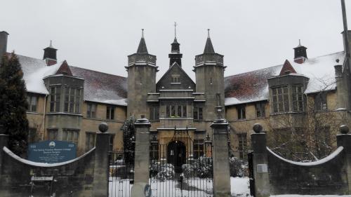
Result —
<path fill-rule="evenodd" d="M 351 21 L 351 1 L 346 8 Z M 8 51 L 42 58 L 53 40 L 59 60 L 121 76 L 144 28 L 147 49 L 157 55 L 157 79 L 168 69 L 173 22 L 192 79 L 208 28 L 216 53 L 225 55 L 225 76 L 291 60 L 298 39 L 308 57 L 343 50 L 340 0 L 4 0 L 0 12 Z"/>

